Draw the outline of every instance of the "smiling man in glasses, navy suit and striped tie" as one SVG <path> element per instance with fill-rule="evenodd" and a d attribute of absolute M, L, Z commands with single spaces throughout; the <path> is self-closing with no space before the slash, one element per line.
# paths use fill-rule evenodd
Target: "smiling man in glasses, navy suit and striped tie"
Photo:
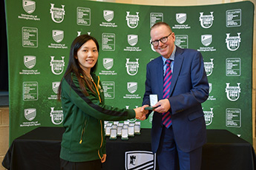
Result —
<path fill-rule="evenodd" d="M 157 153 L 160 170 L 178 166 L 181 170 L 200 169 L 206 143 L 201 103 L 209 96 L 209 83 L 201 53 L 176 47 L 174 41 L 165 22 L 151 27 L 151 44 L 161 56 L 147 64 L 142 110 L 149 106 L 149 95 L 158 95 L 160 101 L 153 106 L 151 148 Z"/>

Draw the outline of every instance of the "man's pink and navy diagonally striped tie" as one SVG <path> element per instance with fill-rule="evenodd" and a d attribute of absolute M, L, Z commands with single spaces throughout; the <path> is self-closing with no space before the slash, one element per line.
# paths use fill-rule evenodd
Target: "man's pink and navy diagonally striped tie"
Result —
<path fill-rule="evenodd" d="M 166 60 L 165 64 L 166 64 L 166 71 L 163 79 L 163 98 L 168 98 L 170 96 L 171 77 L 172 77 L 171 61 Z M 162 122 L 166 128 L 169 128 L 171 126 L 171 113 L 169 111 L 163 113 Z"/>

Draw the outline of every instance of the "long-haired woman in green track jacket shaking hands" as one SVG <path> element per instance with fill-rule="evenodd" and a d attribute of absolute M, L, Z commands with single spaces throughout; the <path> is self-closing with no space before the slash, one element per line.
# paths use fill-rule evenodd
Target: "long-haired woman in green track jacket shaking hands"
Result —
<path fill-rule="evenodd" d="M 99 44 L 90 35 L 79 35 L 71 44 L 68 68 L 58 92 L 65 127 L 60 152 L 63 170 L 101 169 L 106 159 L 104 120 L 145 119 L 140 108 L 105 105 L 99 76 L 94 74 L 98 55 Z"/>

